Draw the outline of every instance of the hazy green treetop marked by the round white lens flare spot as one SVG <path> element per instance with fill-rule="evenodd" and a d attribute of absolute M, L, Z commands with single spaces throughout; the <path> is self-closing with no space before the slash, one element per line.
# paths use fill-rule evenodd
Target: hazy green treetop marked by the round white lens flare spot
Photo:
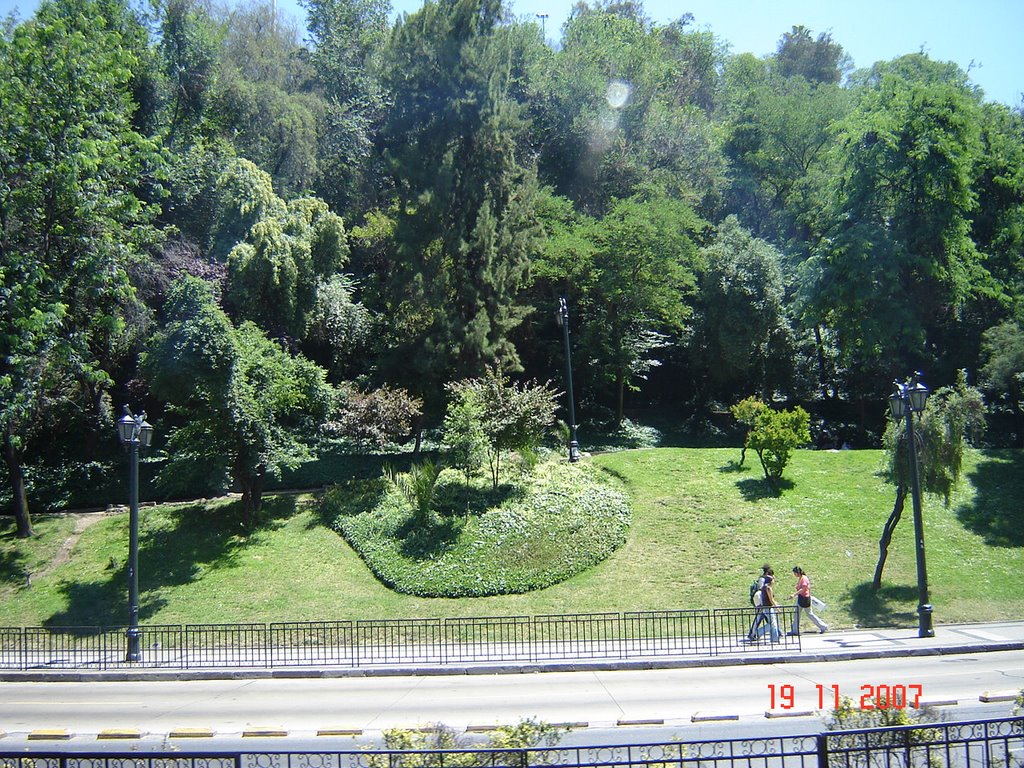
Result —
<path fill-rule="evenodd" d="M 654 182 L 712 211 L 725 166 L 709 118 L 722 49 L 686 17 L 658 30 L 624 4 L 580 3 L 539 58 L 530 115 L 540 173 L 591 215 Z"/>

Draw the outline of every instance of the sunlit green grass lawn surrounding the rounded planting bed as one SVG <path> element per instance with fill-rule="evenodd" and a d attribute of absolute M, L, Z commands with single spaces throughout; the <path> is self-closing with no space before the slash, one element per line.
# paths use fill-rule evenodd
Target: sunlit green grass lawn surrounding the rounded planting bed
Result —
<path fill-rule="evenodd" d="M 631 499 L 625 544 L 606 560 L 547 589 L 477 598 L 421 598 L 384 587 L 331 528 L 311 496 L 269 499 L 264 524 L 245 536 L 233 502 L 143 508 L 141 621 L 150 625 L 542 613 L 737 606 L 762 562 L 792 591 L 800 564 L 837 628 L 916 625 L 909 503 L 893 539 L 883 589 L 868 587 L 894 489 L 877 475 L 878 451 L 797 452 L 780 496 L 734 449 L 656 449 L 588 461 Z M 339 478 L 339 480 L 344 478 Z M 969 456 L 952 503 L 926 498 L 936 623 L 1024 614 L 1024 453 Z M 48 568 L 71 535 L 39 516 L 37 536 L 0 527 L 0 626 L 123 625 L 128 515 L 103 515 L 68 562 Z M 35 575 L 31 586 L 25 573 Z"/>

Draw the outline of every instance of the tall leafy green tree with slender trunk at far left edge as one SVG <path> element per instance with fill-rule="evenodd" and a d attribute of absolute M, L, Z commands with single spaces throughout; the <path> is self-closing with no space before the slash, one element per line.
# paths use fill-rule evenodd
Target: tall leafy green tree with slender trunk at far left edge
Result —
<path fill-rule="evenodd" d="M 141 318 L 129 272 L 154 240 L 139 190 L 159 155 L 131 122 L 126 14 L 44 2 L 0 37 L 0 431 L 19 537 L 32 436 L 70 402 L 93 427 L 109 417 L 109 372 Z"/>

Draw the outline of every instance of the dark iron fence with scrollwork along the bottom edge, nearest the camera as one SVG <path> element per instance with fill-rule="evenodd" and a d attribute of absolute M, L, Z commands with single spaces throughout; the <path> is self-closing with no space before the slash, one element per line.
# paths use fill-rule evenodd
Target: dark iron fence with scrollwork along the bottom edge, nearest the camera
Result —
<path fill-rule="evenodd" d="M 3 753 L 0 768 L 1020 768 L 1024 719 L 529 750 Z"/>

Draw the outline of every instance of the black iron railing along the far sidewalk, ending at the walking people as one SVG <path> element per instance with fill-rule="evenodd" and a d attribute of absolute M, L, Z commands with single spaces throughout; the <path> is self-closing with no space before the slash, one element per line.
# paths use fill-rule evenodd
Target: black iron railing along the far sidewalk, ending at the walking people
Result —
<path fill-rule="evenodd" d="M 788 627 L 792 608 L 777 608 Z M 538 664 L 797 651 L 781 632 L 749 640 L 754 608 L 476 618 L 407 618 L 139 627 L 0 628 L 0 669 L 362 667 Z"/>

